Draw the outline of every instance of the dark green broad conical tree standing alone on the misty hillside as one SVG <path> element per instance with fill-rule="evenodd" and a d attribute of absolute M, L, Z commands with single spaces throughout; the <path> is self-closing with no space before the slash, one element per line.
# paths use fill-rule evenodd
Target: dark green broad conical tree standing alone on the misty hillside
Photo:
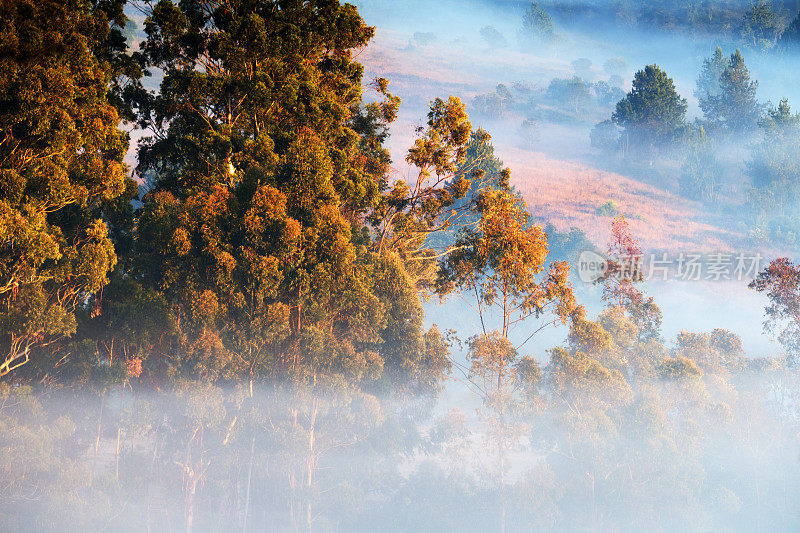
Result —
<path fill-rule="evenodd" d="M 653 147 L 676 138 L 686 108 L 672 78 L 657 65 L 648 65 L 636 73 L 631 92 L 617 103 L 611 118 L 625 128 L 627 142 Z"/>

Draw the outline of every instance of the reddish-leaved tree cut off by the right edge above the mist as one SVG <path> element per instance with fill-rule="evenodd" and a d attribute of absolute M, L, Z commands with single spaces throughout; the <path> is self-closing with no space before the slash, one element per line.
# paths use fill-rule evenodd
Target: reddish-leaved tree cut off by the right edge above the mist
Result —
<path fill-rule="evenodd" d="M 789 363 L 796 364 L 800 354 L 800 267 L 786 257 L 774 259 L 748 287 L 766 293 L 769 305 L 764 331 L 777 335 Z"/>

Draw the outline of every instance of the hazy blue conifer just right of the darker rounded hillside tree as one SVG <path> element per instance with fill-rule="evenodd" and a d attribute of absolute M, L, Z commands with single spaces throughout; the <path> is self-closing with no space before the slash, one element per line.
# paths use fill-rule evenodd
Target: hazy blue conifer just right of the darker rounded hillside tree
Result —
<path fill-rule="evenodd" d="M 758 82 L 750 81 L 750 72 L 741 52 L 728 59 L 719 77 L 719 92 L 701 101 L 708 123 L 726 133 L 747 133 L 758 125 L 761 105 L 756 101 Z"/>

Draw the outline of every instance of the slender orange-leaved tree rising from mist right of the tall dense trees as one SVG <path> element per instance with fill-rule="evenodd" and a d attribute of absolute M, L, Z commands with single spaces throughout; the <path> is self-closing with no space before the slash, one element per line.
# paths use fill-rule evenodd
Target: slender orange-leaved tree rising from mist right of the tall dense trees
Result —
<path fill-rule="evenodd" d="M 531 358 L 518 359 L 518 349 L 544 327 L 566 323 L 582 314 L 569 283 L 567 263 L 553 263 L 543 279 L 547 236 L 529 225 L 528 213 L 511 194 L 507 182 L 499 189 L 481 191 L 475 205 L 480 220 L 467 226 L 452 251 L 440 262 L 437 292 L 460 291 L 477 312 L 482 333 L 469 339 L 468 378 L 490 408 L 491 426 L 498 450 L 498 487 L 501 491 L 500 528 L 506 524 L 505 456 L 514 439 L 508 416 L 518 385 L 514 363 L 522 365 L 520 377 L 538 380 Z M 500 313 L 498 328 L 487 325 L 488 311 Z M 517 346 L 509 339 L 511 329 L 528 318 L 545 319 Z M 523 388 L 526 388 L 523 385 Z"/>

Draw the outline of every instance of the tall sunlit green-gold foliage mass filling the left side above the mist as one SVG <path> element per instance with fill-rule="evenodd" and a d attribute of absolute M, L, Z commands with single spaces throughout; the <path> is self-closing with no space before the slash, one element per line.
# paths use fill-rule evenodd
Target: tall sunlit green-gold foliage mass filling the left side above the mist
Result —
<path fill-rule="evenodd" d="M 0 231 L 15 256 L 2 264 L 14 304 L 0 317 L 13 356 L 3 373 L 34 343 L 77 329 L 56 345 L 64 380 L 374 383 L 386 368 L 397 383 L 435 390 L 449 341 L 422 330 L 419 304 L 435 262 L 407 254 L 421 250 L 418 230 L 435 225 L 449 200 L 401 201 L 396 220 L 378 223 L 397 192 L 385 180 L 383 142 L 400 100 L 377 79 L 369 87 L 378 100 L 362 102 L 353 51 L 373 29 L 338 2 L 165 0 L 148 6 L 141 52 L 124 54 L 131 29 L 122 31 L 121 6 L 62 6 L 74 12 L 62 26 L 30 17 L 25 2 L 5 7 L 4 19 L 28 35 L 64 41 L 37 56 L 52 36 L 31 39 L 28 51 L 15 33 L 22 26 L 3 29 L 3 46 L 19 48 L 3 55 L 4 93 L 17 99 L 4 103 L 3 131 L 25 154 L 6 157 L 17 166 L 3 170 Z M 117 17 L 110 30 L 106 12 Z M 11 68 L 37 57 L 52 72 Z M 163 73 L 158 91 L 141 90 L 139 65 Z M 60 77 L 63 94 L 38 100 L 36 76 Z M 428 141 L 410 158 L 423 172 L 452 174 L 470 126 L 460 102 L 438 102 Z M 131 204 L 138 192 L 121 164 L 127 139 L 112 104 L 152 132 L 140 143 L 141 205 Z M 62 108 L 71 121 L 53 118 Z M 36 113 L 53 115 L 52 126 L 37 125 Z M 35 127 L 50 128 L 45 150 L 55 155 L 24 144 Z M 374 241 L 384 228 L 407 245 Z M 109 279 L 105 297 L 93 296 Z"/>

